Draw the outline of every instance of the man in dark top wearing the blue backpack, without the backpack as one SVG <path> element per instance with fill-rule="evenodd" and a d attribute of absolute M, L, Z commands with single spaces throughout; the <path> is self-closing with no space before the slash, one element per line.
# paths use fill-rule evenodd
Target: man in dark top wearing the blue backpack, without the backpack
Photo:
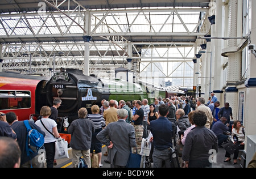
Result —
<path fill-rule="evenodd" d="M 26 143 L 27 143 L 27 128 L 24 125 L 23 121 L 18 121 L 18 117 L 14 112 L 6 113 L 6 121 L 11 125 L 11 128 L 15 131 L 17 135 L 17 142 L 19 144 L 20 150 L 22 152 L 20 159 L 20 168 L 44 168 L 45 157 L 42 157 L 43 154 L 38 154 L 34 152 L 30 156 L 27 155 Z M 43 137 L 46 136 L 44 131 L 40 129 L 34 122 L 28 121 L 32 129 L 36 129 L 40 134 L 43 134 Z M 32 166 L 31 166 L 32 165 Z"/>

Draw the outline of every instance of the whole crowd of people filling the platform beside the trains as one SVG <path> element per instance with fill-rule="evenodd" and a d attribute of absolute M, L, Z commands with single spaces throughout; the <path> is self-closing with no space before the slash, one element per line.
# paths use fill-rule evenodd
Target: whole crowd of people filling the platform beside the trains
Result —
<path fill-rule="evenodd" d="M 170 150 L 176 146 L 177 139 L 183 145 L 181 159 L 185 167 L 211 167 L 212 163 L 208 160 L 209 150 L 218 152 L 218 147 L 228 140 L 225 131 L 231 132 L 231 140 L 234 143 L 240 143 L 240 150 L 245 146 L 244 127 L 241 122 L 234 121 L 233 128 L 230 128 L 233 114 L 229 103 L 217 112 L 220 102 L 214 93 L 211 96 L 207 104 L 203 97 L 194 99 L 192 96 L 170 96 L 166 99 L 155 98 L 152 104 L 148 104 L 147 99 L 102 100 L 101 107 L 92 106 L 92 114 L 88 114 L 86 108 L 80 108 L 77 120 L 68 127 L 68 133 L 72 135 L 72 167 L 78 166 L 82 156 L 90 168 L 93 151 L 98 155 L 98 166 L 102 167 L 101 149 L 102 145 L 106 145 L 108 150 L 104 155 L 108 157 L 104 161 L 110 163 L 111 167 L 124 168 L 130 152 L 140 154 L 142 139 L 149 135 L 152 142 L 153 167 L 170 167 Z M 60 105 L 61 100 L 55 99 L 51 108 L 42 107 L 41 117 L 35 123 L 29 121 L 32 129 L 44 135 L 46 164 L 36 160 L 40 154 L 35 154 L 32 159 L 26 156 L 27 130 L 23 122 L 18 121 L 18 116 L 14 112 L 0 112 L 0 135 L 12 139 L 6 142 L 5 138 L 0 138 L 0 143 L 5 143 L 5 146 L 18 144 L 18 150 L 13 156 L 15 162 L 6 164 L 6 167 L 30 167 L 31 163 L 32 167 L 53 167 L 56 162 L 55 141 L 60 137 L 56 123 L 57 108 Z M 234 141 L 234 135 L 238 138 L 237 141 Z M 2 161 L 7 159 L 3 151 L 7 150 L 8 146 L 0 147 L 3 148 L 0 150 L 2 164 Z M 225 156 L 227 158 L 224 162 L 229 162 L 231 157 L 228 152 Z M 237 164 L 237 157 L 238 152 L 235 152 L 233 164 Z"/>

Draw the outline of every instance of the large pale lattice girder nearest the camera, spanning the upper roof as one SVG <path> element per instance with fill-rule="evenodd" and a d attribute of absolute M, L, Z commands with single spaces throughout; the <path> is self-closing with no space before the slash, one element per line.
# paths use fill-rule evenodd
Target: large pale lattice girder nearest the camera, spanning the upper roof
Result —
<path fill-rule="evenodd" d="M 195 42 L 197 36 L 204 35 L 204 33 L 197 32 L 201 21 L 189 24 L 189 28 L 184 22 L 186 21 L 185 18 L 190 15 L 189 13 L 196 15 L 200 11 L 206 15 L 207 9 L 187 9 L 187 11 L 185 9 L 161 9 L 158 11 L 156 13 L 156 10 L 108 10 L 101 11 L 100 14 L 99 11 L 89 11 L 92 19 L 90 25 L 92 30 L 87 33 L 93 37 L 94 41 L 105 41 L 106 39 L 102 37 L 109 39 L 109 36 L 121 36 L 127 41 L 151 41 L 152 39 L 155 41 L 175 41 L 175 38 L 177 38 L 176 41 L 181 41 L 180 37 L 182 37 L 183 41 L 187 38 L 187 41 Z M 45 13 L 45 15 L 40 13 L 0 15 L 2 26 L 2 28 L 0 27 L 0 42 L 5 44 L 82 41 L 85 11 L 76 11 L 65 15 L 60 12 Z M 132 21 L 129 25 L 123 23 L 126 15 Z M 170 16 L 175 16 L 176 22 L 172 22 Z M 142 19 L 147 20 L 143 22 Z M 162 19 L 161 23 L 156 19 Z M 176 28 L 179 27 L 179 31 L 172 29 L 175 25 Z"/>

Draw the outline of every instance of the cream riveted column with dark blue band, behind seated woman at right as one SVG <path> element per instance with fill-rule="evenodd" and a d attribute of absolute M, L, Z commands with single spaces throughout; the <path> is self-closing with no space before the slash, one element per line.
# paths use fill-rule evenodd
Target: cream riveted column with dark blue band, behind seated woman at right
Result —
<path fill-rule="evenodd" d="M 228 36 L 229 37 L 240 37 L 242 35 L 237 34 L 237 0 L 229 1 L 229 25 L 228 25 Z M 228 40 L 228 48 L 237 47 L 236 39 Z M 237 94 L 237 82 L 241 78 L 241 52 L 230 53 L 228 56 L 228 67 L 227 67 L 227 81 L 225 89 L 226 100 L 232 108 L 234 120 L 237 120 L 237 109 L 238 109 L 238 94 Z"/>

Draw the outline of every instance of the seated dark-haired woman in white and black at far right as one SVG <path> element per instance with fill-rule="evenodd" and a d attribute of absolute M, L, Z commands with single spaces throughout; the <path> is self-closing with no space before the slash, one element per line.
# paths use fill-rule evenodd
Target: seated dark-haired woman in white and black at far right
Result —
<path fill-rule="evenodd" d="M 236 150 L 234 151 L 234 156 L 233 156 L 233 160 L 234 160 L 233 165 L 235 165 L 235 164 L 237 164 L 237 157 L 238 157 L 239 150 L 245 149 L 245 129 L 243 126 L 241 126 L 241 122 L 238 120 L 234 121 L 234 123 L 233 123 L 231 140 L 234 144 L 236 144 L 238 142 L 238 146 L 237 146 Z M 231 161 L 229 152 L 226 151 L 225 157 L 227 157 L 227 158 L 226 158 L 226 160 L 224 160 L 224 162 Z"/>

